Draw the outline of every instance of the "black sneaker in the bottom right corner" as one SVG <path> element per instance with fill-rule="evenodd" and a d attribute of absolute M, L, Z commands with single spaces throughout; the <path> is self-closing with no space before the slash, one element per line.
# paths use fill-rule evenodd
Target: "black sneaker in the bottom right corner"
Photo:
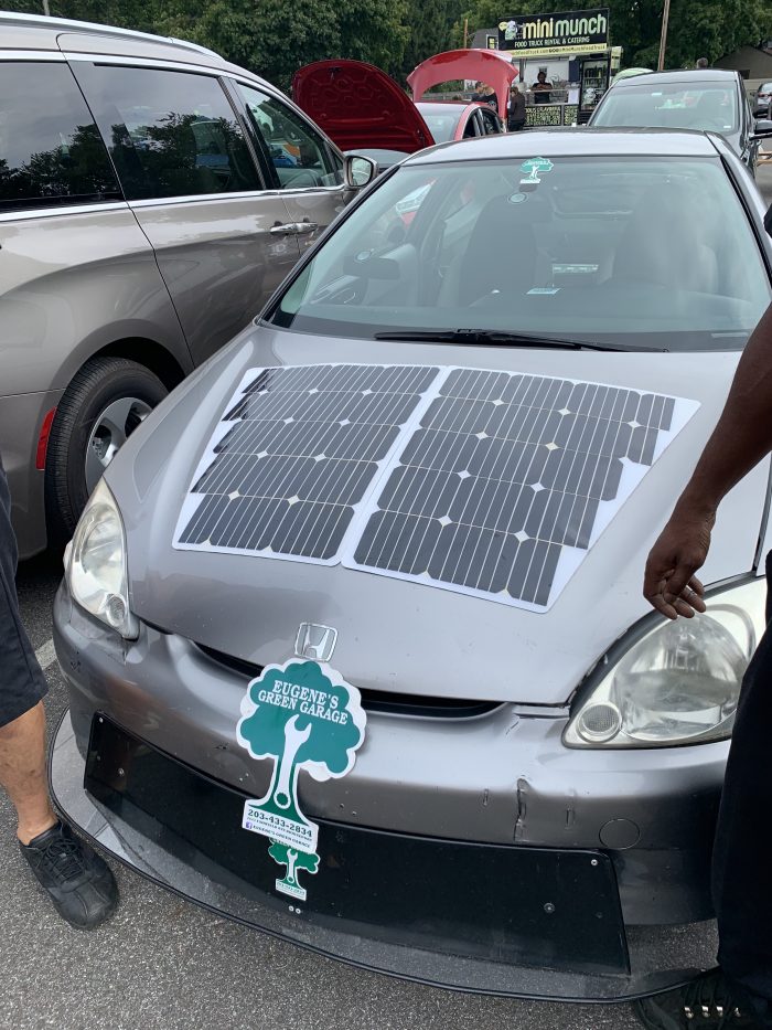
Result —
<path fill-rule="evenodd" d="M 772 1020 L 752 1011 L 747 995 L 711 969 L 685 987 L 633 1002 L 648 1030 L 765 1030 Z"/>

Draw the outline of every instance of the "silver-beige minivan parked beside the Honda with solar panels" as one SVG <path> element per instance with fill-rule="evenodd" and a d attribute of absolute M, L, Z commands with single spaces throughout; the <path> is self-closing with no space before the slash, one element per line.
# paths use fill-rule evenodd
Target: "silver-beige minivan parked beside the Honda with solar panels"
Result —
<path fill-rule="evenodd" d="M 0 454 L 20 553 L 353 195 L 336 147 L 192 43 L 0 13 Z"/>

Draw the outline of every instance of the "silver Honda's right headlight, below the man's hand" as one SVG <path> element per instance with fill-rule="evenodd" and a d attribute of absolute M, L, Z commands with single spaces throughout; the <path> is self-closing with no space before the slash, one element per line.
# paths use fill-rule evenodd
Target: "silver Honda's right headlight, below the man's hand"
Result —
<path fill-rule="evenodd" d="M 742 677 L 765 628 L 765 595 L 763 577 L 746 581 L 706 597 L 706 615 L 653 620 L 647 631 L 634 627 L 580 692 L 564 743 L 672 747 L 729 737 Z"/>

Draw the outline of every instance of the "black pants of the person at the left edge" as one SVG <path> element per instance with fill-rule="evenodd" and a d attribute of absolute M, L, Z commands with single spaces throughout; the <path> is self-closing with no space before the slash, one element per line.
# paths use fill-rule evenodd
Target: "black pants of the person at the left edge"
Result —
<path fill-rule="evenodd" d="M 0 726 L 29 712 L 47 690 L 19 615 L 17 556 L 11 498 L 0 461 Z"/>

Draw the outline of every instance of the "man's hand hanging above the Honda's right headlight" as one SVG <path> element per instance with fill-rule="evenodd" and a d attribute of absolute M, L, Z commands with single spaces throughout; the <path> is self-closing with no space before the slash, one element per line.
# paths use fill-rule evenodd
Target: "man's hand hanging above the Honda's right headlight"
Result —
<path fill-rule="evenodd" d="M 646 561 L 643 596 L 667 618 L 705 612 L 705 587 L 695 572 L 705 564 L 715 514 L 673 512 Z"/>

